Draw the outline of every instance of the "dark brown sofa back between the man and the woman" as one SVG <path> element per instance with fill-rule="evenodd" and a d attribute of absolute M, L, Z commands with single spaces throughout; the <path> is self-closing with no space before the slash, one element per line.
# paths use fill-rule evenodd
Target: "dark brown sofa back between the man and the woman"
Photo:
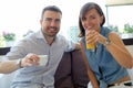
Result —
<path fill-rule="evenodd" d="M 55 88 L 86 88 L 90 80 L 81 51 L 64 53 L 54 78 Z"/>

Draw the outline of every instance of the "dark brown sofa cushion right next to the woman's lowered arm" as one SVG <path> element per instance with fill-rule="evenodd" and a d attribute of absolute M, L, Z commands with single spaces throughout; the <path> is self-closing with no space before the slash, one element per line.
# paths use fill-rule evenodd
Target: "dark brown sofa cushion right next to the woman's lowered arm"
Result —
<path fill-rule="evenodd" d="M 85 88 L 90 81 L 88 70 L 82 58 L 81 51 L 72 52 L 72 79 L 74 80 L 74 88 Z"/>

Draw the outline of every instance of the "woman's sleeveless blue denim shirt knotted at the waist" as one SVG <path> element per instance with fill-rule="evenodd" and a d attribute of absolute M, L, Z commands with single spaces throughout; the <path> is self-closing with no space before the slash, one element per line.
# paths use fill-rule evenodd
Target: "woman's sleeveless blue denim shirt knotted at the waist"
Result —
<path fill-rule="evenodd" d="M 102 28 L 101 30 L 101 34 L 106 38 L 110 32 L 111 30 L 108 28 Z M 85 46 L 85 37 L 83 37 L 83 44 Z M 115 61 L 102 44 L 96 44 L 96 52 L 85 50 L 85 53 L 89 64 L 100 81 L 100 88 L 108 88 L 108 84 L 112 84 L 127 76 L 126 69 Z"/>

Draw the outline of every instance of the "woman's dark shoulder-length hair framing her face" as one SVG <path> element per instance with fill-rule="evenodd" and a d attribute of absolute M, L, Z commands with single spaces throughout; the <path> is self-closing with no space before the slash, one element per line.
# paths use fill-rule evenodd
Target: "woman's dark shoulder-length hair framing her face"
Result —
<path fill-rule="evenodd" d="M 98 13 L 102 16 L 103 15 L 103 22 L 101 23 L 101 26 L 105 23 L 105 16 L 104 13 L 102 11 L 102 9 L 100 8 L 99 4 L 94 3 L 94 2 L 88 2 L 85 3 L 80 11 L 80 15 L 79 15 L 79 29 L 80 29 L 80 34 L 79 36 L 82 37 L 85 35 L 85 31 L 83 29 L 83 25 L 81 23 L 81 20 L 84 18 L 85 13 L 92 9 L 95 9 L 98 11 Z"/>

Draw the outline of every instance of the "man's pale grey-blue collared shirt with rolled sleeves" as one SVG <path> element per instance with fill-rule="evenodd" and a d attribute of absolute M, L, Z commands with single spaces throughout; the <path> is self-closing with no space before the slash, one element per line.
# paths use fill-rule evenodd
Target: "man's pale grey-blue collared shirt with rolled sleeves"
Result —
<path fill-rule="evenodd" d="M 49 63 L 47 66 L 31 66 L 19 69 L 11 88 L 54 88 L 54 73 L 62 55 L 64 52 L 74 48 L 75 44 L 61 35 L 57 35 L 51 46 L 47 43 L 41 30 L 28 35 L 11 48 L 6 58 L 18 59 L 29 53 L 34 53 L 48 55 Z"/>

